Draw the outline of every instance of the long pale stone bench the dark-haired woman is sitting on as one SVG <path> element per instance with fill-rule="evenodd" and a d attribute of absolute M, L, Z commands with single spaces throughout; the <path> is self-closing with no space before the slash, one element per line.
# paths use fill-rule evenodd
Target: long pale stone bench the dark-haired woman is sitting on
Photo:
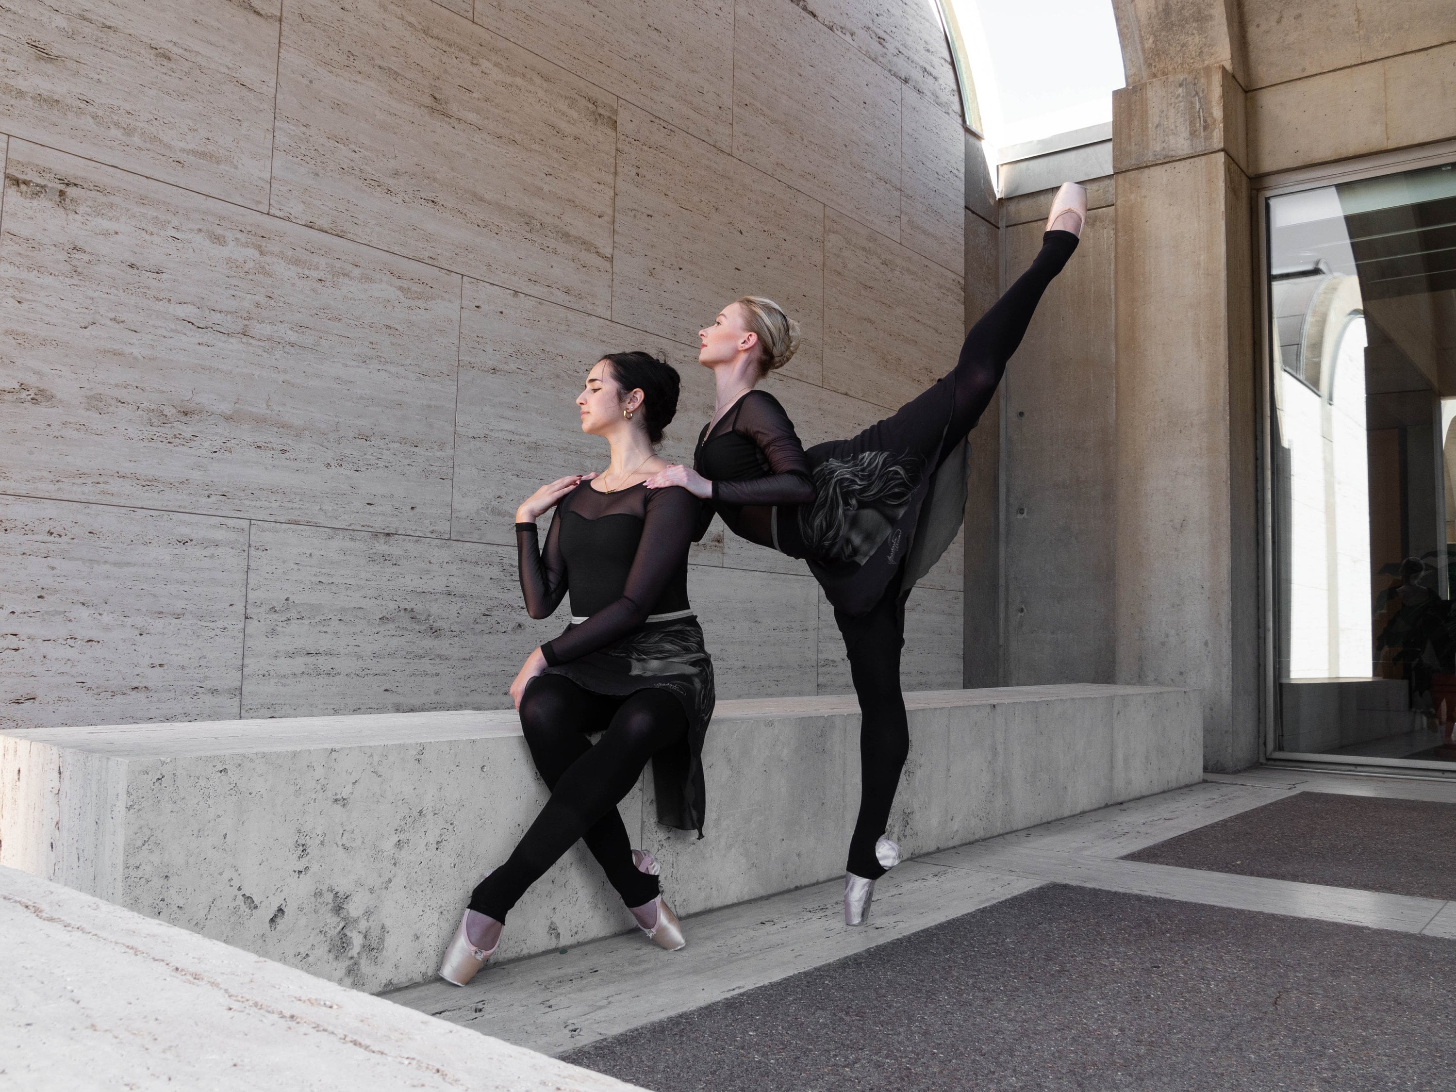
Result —
<path fill-rule="evenodd" d="M 890 828 L 907 856 L 1203 772 L 1192 690 L 945 690 L 907 703 Z M 660 827 L 642 779 L 623 818 L 680 914 L 843 872 L 858 729 L 852 696 L 721 702 L 703 840 Z M 0 865 L 370 992 L 434 974 L 467 893 L 543 801 L 508 711 L 0 734 Z M 496 958 L 630 925 L 577 846 L 518 904 Z"/>

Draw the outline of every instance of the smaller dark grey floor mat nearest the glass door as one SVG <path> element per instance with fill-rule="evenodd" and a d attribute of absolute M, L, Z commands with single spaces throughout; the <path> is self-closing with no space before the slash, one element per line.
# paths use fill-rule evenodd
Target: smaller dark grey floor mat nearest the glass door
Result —
<path fill-rule="evenodd" d="M 1300 792 L 1124 859 L 1456 898 L 1456 804 Z"/>

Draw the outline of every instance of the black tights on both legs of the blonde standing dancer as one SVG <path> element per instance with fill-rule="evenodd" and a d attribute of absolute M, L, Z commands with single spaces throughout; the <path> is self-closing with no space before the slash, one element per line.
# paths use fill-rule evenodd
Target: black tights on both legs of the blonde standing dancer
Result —
<path fill-rule="evenodd" d="M 941 447 L 942 462 L 990 405 L 1006 373 L 1006 361 L 1021 345 L 1041 294 L 1061 272 L 1076 246 L 1077 237 L 1070 232 L 1047 232 L 1031 268 L 965 335 L 955 365 L 955 406 Z M 866 614 L 850 617 L 834 612 L 849 652 L 849 671 L 860 711 L 859 818 L 849 840 L 846 871 L 866 879 L 878 879 L 885 872 L 875 859 L 875 843 L 890 824 L 890 808 L 910 754 L 910 722 L 900 692 L 900 651 L 904 648 L 909 597 L 910 593 L 901 591 L 895 578 Z"/>

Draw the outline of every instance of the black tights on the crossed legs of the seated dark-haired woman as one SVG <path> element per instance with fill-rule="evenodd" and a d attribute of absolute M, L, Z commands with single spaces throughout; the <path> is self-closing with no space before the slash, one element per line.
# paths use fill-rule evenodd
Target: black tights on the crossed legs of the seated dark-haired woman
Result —
<path fill-rule="evenodd" d="M 628 906 L 657 898 L 657 877 L 632 863 L 617 812 L 648 760 L 687 734 L 681 702 L 664 690 L 607 697 L 562 676 L 539 676 L 521 699 L 521 728 L 550 799 L 504 865 L 480 881 L 470 909 L 504 922 L 526 890 L 578 839 Z M 596 744 L 587 735 L 601 732 Z"/>

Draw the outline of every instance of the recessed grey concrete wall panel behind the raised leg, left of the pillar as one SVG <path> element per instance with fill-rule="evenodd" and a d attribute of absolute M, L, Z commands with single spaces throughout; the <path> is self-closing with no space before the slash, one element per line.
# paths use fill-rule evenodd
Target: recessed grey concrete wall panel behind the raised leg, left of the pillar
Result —
<path fill-rule="evenodd" d="M 1096 178 L 1086 186 L 1076 256 L 971 434 L 967 686 L 1114 677 L 1114 185 Z M 983 205 L 989 220 L 968 208 L 967 268 L 978 239 L 994 248 L 1000 288 L 1025 272 L 1054 192 L 993 198 Z M 992 303 L 968 284 L 967 322 Z"/>

